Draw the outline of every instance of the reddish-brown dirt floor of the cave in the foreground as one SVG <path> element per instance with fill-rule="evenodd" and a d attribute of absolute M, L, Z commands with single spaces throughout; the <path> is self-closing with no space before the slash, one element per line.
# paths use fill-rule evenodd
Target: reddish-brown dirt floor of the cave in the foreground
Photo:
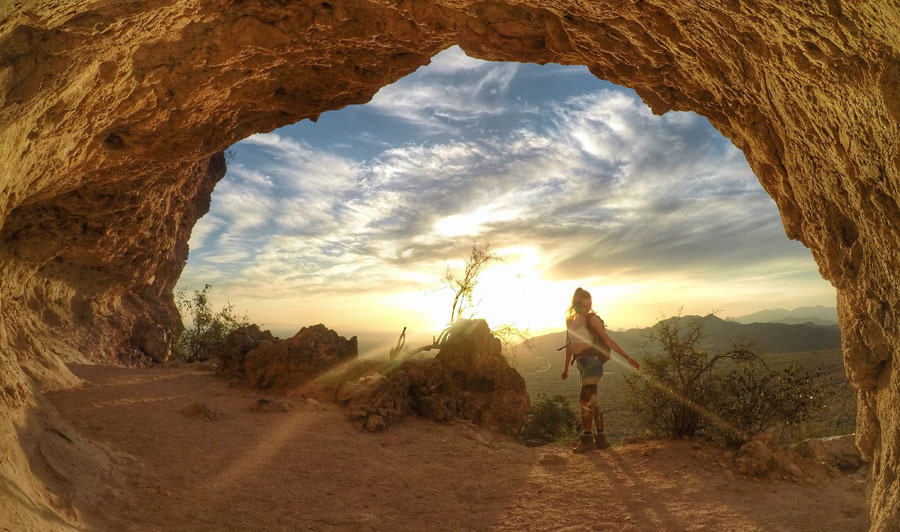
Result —
<path fill-rule="evenodd" d="M 197 367 L 72 369 L 87 383 L 48 397 L 117 479 L 79 509 L 88 530 L 868 529 L 859 476 L 747 478 L 705 443 L 573 455 L 417 418 L 369 434 L 337 405 L 252 411 L 264 395 Z M 182 413 L 194 403 L 211 415 Z"/>

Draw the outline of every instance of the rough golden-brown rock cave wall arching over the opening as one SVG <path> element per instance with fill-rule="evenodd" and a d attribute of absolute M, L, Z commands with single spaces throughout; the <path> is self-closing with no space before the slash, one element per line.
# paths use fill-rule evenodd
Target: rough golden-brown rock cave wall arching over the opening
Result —
<path fill-rule="evenodd" d="M 453 44 L 582 64 L 656 113 L 706 116 L 812 251 L 872 526 L 900 527 L 896 3 L 12 0 L 0 21 L 0 360 L 41 387 L 74 384 L 61 360 L 165 356 L 215 153 L 366 102 Z"/>

